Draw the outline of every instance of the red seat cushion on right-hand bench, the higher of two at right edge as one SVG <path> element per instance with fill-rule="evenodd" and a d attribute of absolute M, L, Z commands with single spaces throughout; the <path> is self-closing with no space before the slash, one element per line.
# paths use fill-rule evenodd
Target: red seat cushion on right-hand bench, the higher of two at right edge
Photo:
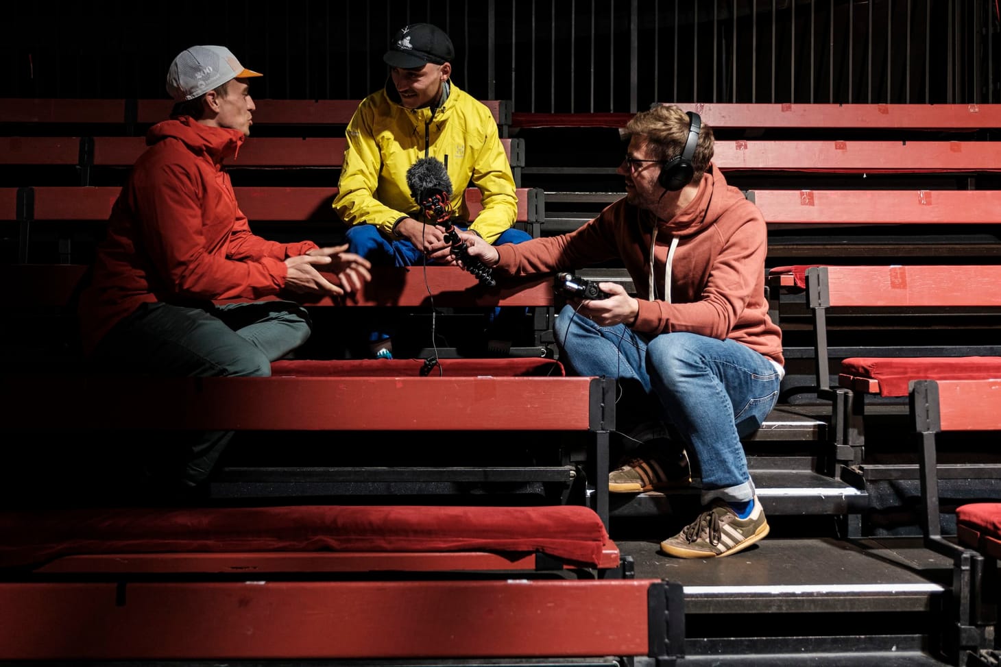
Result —
<path fill-rule="evenodd" d="M 877 381 L 880 396 L 907 396 L 913 380 L 1001 378 L 1001 357 L 852 357 L 841 373 Z"/>

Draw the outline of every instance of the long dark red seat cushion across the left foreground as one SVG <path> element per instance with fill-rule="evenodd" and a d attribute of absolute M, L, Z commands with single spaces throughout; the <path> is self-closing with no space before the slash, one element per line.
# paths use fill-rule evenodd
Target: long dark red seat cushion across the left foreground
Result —
<path fill-rule="evenodd" d="M 582 506 L 124 508 L 0 513 L 0 566 L 74 554 L 541 551 L 599 565 L 609 535 Z"/>

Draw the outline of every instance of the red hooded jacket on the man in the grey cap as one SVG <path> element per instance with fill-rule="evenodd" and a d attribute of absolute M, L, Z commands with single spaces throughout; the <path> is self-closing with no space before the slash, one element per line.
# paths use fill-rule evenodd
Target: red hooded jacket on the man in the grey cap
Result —
<path fill-rule="evenodd" d="M 80 296 L 85 353 L 141 303 L 256 299 L 285 284 L 286 257 L 316 247 L 254 235 L 223 159 L 246 137 L 188 116 L 150 128 L 111 210 Z"/>

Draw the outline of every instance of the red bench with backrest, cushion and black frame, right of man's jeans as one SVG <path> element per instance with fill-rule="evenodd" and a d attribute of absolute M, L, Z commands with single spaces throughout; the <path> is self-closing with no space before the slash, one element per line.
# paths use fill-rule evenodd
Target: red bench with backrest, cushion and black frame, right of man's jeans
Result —
<path fill-rule="evenodd" d="M 899 438 L 909 386 L 1001 375 L 1001 267 L 793 266 L 773 278 L 812 316 L 812 386 L 790 391 L 827 414 L 825 470 L 867 492 L 867 530 L 899 524 L 918 480 Z M 998 488 L 1001 465 L 983 448 L 957 451 L 942 475 L 951 492 L 976 495 Z"/>

